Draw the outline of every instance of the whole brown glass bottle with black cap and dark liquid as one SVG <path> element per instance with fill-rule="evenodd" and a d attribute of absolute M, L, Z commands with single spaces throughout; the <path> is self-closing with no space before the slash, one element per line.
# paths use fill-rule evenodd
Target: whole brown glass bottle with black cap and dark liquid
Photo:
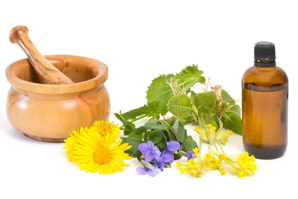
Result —
<path fill-rule="evenodd" d="M 288 144 L 288 77 L 276 66 L 273 43 L 256 43 L 254 58 L 242 77 L 243 145 L 256 158 L 275 159 Z"/>

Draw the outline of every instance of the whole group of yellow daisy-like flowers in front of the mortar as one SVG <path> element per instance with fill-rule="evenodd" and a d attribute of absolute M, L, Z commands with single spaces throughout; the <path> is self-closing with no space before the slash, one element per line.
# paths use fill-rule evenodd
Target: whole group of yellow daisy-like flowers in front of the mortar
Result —
<path fill-rule="evenodd" d="M 103 120 L 95 121 L 89 129 L 80 127 L 70 133 L 64 149 L 67 149 L 69 161 L 78 164 L 80 170 L 99 174 L 114 174 L 124 171 L 122 167 L 129 166 L 124 160 L 129 160 L 128 143 L 121 144 L 118 124 Z"/>

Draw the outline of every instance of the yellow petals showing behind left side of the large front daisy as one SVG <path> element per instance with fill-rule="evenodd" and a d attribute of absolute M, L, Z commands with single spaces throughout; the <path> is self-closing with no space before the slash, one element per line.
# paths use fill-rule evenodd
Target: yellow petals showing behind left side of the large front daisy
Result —
<path fill-rule="evenodd" d="M 74 160 L 74 145 L 79 144 L 77 139 L 79 138 L 80 134 L 82 132 L 87 133 L 88 128 L 83 128 L 80 127 L 76 130 L 73 131 L 73 133 L 70 133 L 70 137 L 65 139 L 64 142 L 66 143 L 65 146 L 63 147 L 63 149 L 68 149 L 67 151 L 65 151 L 65 153 L 67 154 L 66 157 L 68 157 L 69 161 L 73 161 Z"/>

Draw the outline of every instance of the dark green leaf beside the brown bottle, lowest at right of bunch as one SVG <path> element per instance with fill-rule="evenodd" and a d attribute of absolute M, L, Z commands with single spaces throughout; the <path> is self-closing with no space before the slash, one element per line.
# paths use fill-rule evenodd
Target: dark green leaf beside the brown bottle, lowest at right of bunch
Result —
<path fill-rule="evenodd" d="M 227 115 L 224 114 L 223 116 L 223 124 L 224 128 L 231 130 L 239 135 L 242 135 L 242 120 L 238 115 L 231 114 Z"/>

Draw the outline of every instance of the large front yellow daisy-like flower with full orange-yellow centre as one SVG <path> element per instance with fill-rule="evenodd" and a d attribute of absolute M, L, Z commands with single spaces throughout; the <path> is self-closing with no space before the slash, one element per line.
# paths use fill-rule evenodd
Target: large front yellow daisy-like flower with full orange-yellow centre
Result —
<path fill-rule="evenodd" d="M 92 173 L 114 174 L 124 171 L 122 167 L 129 165 L 123 160 L 131 159 L 124 151 L 132 146 L 121 144 L 122 139 L 115 143 L 115 136 L 107 133 L 103 140 L 98 133 L 81 133 L 77 139 L 79 144 L 74 146 L 74 163 L 79 164 L 80 170 Z"/>

